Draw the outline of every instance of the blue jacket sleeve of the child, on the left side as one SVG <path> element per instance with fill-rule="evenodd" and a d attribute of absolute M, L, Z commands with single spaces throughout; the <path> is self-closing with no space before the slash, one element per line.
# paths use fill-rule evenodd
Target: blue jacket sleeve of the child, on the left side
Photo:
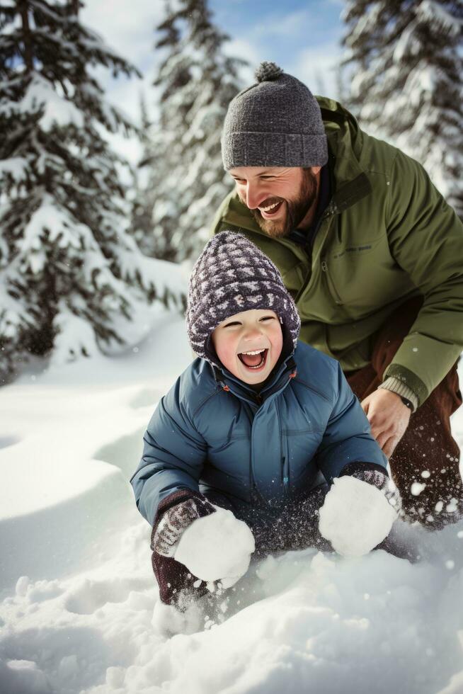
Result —
<path fill-rule="evenodd" d="M 139 512 L 152 525 L 158 506 L 180 489 L 199 491 L 207 445 L 180 397 L 181 378 L 161 399 L 144 434 L 142 460 L 130 480 Z"/>

